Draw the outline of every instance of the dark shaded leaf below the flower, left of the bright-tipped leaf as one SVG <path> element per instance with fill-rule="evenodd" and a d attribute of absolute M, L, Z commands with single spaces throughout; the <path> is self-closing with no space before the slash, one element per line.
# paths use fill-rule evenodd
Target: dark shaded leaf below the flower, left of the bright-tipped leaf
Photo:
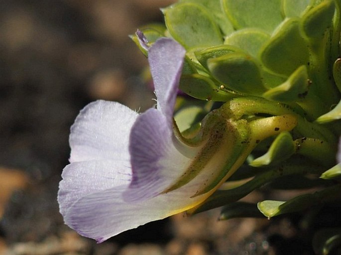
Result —
<path fill-rule="evenodd" d="M 233 202 L 225 205 L 219 216 L 219 220 L 229 220 L 233 218 L 261 218 L 264 215 L 257 209 L 257 205 L 247 202 Z"/>

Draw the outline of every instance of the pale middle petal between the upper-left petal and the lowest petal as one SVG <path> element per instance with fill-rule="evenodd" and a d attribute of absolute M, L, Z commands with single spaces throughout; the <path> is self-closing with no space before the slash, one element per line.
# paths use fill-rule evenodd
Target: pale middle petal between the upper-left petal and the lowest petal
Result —
<path fill-rule="evenodd" d="M 67 165 L 59 183 L 58 203 L 63 216 L 81 197 L 131 181 L 129 161 L 102 160 L 74 162 Z"/>

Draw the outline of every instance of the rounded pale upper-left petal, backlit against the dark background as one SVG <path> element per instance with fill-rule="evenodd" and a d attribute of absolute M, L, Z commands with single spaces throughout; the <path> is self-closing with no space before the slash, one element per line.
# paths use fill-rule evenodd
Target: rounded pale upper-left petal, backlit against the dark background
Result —
<path fill-rule="evenodd" d="M 129 160 L 129 133 L 137 116 L 116 102 L 99 100 L 87 105 L 71 127 L 70 162 Z"/>

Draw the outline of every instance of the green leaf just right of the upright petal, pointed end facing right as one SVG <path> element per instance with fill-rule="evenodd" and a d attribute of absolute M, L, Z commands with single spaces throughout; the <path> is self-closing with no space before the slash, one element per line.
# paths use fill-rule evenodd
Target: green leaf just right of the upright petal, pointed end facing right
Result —
<path fill-rule="evenodd" d="M 194 98 L 207 101 L 226 102 L 240 96 L 228 91 L 224 86 L 217 86 L 209 77 L 198 73 L 182 75 L 180 90 Z"/>

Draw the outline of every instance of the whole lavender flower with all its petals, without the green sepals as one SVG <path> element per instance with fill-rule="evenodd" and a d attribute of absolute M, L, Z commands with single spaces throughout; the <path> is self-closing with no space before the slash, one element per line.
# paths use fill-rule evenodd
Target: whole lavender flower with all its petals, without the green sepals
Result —
<path fill-rule="evenodd" d="M 60 212 L 68 226 L 98 243 L 185 211 L 212 193 L 198 194 L 213 175 L 208 171 L 172 188 L 202 148 L 184 144 L 173 133 L 185 50 L 162 38 L 148 55 L 157 109 L 138 114 L 116 102 L 96 101 L 71 128 L 70 164 L 58 192 Z M 203 160 L 196 161 L 205 168 Z"/>

